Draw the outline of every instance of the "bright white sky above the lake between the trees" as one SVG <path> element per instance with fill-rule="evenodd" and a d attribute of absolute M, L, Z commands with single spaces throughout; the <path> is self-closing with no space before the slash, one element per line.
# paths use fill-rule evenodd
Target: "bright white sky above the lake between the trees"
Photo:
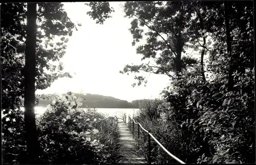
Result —
<path fill-rule="evenodd" d="M 37 93 L 65 93 L 68 91 L 100 94 L 132 101 L 155 98 L 169 82 L 166 75 L 151 74 L 147 86 L 132 87 L 134 74 L 119 73 L 126 64 L 141 64 L 136 46 L 132 46 L 129 32 L 131 20 L 124 18 L 124 2 L 110 2 L 115 12 L 101 24 L 87 15 L 89 8 L 82 2 L 65 3 L 65 10 L 73 22 L 80 22 L 67 43 L 67 53 L 61 60 L 65 70 L 75 72 L 73 78 L 59 78 L 50 88 Z M 149 74 L 144 74 L 148 76 Z"/>

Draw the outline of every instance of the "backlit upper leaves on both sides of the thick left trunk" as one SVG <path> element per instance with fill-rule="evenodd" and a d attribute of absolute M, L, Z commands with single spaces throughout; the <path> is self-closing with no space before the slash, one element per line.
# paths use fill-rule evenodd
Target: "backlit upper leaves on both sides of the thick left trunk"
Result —
<path fill-rule="evenodd" d="M 24 97 L 24 66 L 25 66 L 25 29 L 26 3 L 1 4 L 1 65 L 3 83 L 3 109 L 22 106 L 20 98 Z M 74 23 L 67 17 L 61 3 L 38 4 L 38 33 L 36 47 L 36 89 L 46 89 L 58 77 L 72 77 L 63 73 L 61 65 L 51 65 L 66 53 L 67 39 L 55 45 L 54 37 L 72 34 Z M 57 21 L 57 22 L 55 22 Z M 58 68 L 58 69 L 56 69 Z M 47 72 L 46 70 L 51 70 Z M 11 82 L 11 83 L 10 83 Z M 12 99 L 10 99 L 12 98 Z"/>

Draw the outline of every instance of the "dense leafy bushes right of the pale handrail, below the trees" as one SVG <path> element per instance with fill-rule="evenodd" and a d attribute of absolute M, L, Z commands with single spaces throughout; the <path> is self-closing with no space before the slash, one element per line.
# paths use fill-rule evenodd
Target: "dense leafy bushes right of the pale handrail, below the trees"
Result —
<path fill-rule="evenodd" d="M 203 82 L 196 73 L 184 74 L 172 89 L 163 91 L 161 101 L 142 107 L 139 122 L 186 163 L 253 162 L 253 70 L 237 74 L 232 91 L 218 80 Z M 141 141 L 146 156 L 147 141 Z M 152 155 L 156 163 L 174 162 L 160 147 L 153 147 Z"/>

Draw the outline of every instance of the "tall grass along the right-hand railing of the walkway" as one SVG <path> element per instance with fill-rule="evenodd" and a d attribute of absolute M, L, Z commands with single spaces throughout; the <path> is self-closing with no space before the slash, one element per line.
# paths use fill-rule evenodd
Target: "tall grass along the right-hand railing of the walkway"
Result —
<path fill-rule="evenodd" d="M 160 114 L 158 113 L 159 100 L 147 101 L 140 111 L 134 115 L 134 120 L 139 122 L 146 130 L 150 130 L 156 139 L 171 153 L 176 155 L 175 150 L 179 145 L 180 132 L 176 126 L 170 122 L 163 124 L 159 122 Z M 138 124 L 134 125 L 134 139 L 139 146 L 138 154 L 148 160 L 148 134 L 140 129 L 138 137 Z M 170 157 L 152 138 L 151 138 L 151 161 L 152 163 L 177 163 Z"/>

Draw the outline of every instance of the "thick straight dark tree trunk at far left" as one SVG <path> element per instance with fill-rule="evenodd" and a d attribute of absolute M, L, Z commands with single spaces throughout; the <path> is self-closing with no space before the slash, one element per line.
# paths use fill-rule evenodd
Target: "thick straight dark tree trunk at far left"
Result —
<path fill-rule="evenodd" d="M 39 143 L 35 123 L 35 56 L 36 56 L 36 3 L 28 3 L 27 39 L 25 50 L 25 137 L 27 142 L 27 163 L 38 162 Z"/>

